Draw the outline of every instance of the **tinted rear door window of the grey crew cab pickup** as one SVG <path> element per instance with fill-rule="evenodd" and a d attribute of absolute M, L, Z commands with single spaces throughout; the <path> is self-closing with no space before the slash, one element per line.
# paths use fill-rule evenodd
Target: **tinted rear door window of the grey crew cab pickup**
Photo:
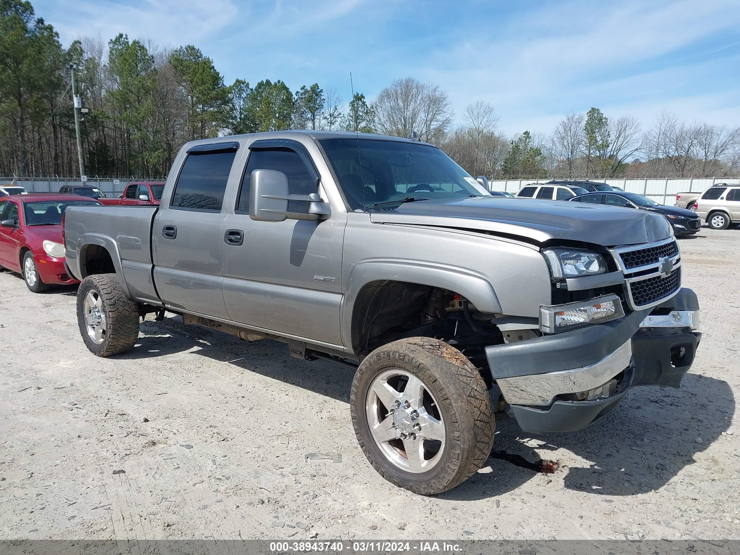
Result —
<path fill-rule="evenodd" d="M 175 184 L 171 208 L 220 212 L 236 152 L 189 154 Z"/>

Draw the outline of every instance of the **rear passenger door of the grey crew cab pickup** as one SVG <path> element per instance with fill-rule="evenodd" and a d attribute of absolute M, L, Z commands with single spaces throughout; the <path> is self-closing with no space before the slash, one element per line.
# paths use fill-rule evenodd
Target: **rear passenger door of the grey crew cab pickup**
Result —
<path fill-rule="evenodd" d="M 228 318 L 223 303 L 223 198 L 239 143 L 196 144 L 181 151 L 172 188 L 152 228 L 155 284 L 165 306 Z M 170 178 L 173 176 L 171 175 Z"/>

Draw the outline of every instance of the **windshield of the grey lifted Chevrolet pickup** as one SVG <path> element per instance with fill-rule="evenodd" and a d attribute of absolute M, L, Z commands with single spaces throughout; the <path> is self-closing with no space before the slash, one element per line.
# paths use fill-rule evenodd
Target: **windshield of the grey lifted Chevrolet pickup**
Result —
<path fill-rule="evenodd" d="M 437 147 L 372 139 L 324 139 L 351 209 L 371 209 L 415 197 L 419 200 L 489 196 L 468 172 Z M 400 206 L 400 204 L 399 204 Z"/>

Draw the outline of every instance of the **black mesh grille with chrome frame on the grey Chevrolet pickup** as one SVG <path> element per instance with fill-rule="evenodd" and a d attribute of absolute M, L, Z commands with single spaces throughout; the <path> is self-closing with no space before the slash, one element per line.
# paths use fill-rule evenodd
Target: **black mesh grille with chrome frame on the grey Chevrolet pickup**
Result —
<path fill-rule="evenodd" d="M 618 247 L 611 253 L 625 275 L 625 299 L 630 309 L 656 306 L 681 289 L 681 253 L 674 238 Z"/>

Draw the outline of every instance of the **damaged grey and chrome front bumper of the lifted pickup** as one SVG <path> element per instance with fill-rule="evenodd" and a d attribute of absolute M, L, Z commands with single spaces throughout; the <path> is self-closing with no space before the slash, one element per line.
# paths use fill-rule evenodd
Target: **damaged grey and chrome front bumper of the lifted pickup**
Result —
<path fill-rule="evenodd" d="M 490 346 L 486 356 L 523 431 L 575 431 L 614 408 L 631 387 L 679 387 L 702 337 L 698 311 L 693 291 L 681 289 L 652 311 Z"/>

